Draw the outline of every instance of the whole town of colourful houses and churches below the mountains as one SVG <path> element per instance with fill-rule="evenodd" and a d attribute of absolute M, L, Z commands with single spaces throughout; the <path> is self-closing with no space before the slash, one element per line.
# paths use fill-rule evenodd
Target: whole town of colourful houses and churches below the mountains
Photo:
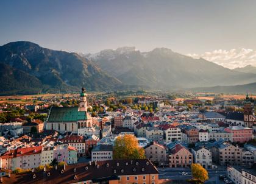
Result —
<path fill-rule="evenodd" d="M 256 183 L 254 98 L 207 95 L 2 98 L 1 182 Z"/>

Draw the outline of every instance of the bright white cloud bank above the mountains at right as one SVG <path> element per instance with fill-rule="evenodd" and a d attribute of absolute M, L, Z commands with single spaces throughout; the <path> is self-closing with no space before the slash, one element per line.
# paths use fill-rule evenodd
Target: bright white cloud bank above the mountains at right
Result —
<path fill-rule="evenodd" d="M 205 60 L 230 69 L 241 68 L 247 65 L 256 66 L 256 50 L 253 49 L 219 49 L 212 52 L 205 52 L 204 54 L 187 55 L 193 58 L 204 58 Z"/>

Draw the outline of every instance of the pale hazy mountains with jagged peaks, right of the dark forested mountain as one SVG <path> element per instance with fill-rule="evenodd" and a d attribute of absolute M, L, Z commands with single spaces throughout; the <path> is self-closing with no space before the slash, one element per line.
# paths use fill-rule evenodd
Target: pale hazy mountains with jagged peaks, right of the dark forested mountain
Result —
<path fill-rule="evenodd" d="M 122 83 L 160 90 L 256 81 L 255 74 L 234 71 L 203 58 L 195 59 L 166 48 L 156 48 L 150 52 L 140 52 L 133 47 L 107 49 L 84 57 Z"/>

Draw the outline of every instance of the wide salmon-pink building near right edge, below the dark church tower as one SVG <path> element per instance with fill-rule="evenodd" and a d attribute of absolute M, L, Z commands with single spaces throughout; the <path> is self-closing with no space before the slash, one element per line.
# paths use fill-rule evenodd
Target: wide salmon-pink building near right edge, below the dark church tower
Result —
<path fill-rule="evenodd" d="M 248 127 L 233 126 L 224 130 L 232 133 L 232 142 L 235 143 L 245 143 L 252 139 L 252 129 Z"/>

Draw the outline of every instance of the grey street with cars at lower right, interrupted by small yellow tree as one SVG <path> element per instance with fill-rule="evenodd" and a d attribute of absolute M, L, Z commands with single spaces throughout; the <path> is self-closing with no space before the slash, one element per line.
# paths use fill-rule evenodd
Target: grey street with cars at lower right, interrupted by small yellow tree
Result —
<path fill-rule="evenodd" d="M 159 179 L 187 180 L 191 179 L 191 170 L 188 168 L 158 168 Z M 188 172 L 188 175 L 180 175 L 180 172 Z M 226 169 L 208 169 L 209 180 L 205 183 L 224 183 L 219 180 L 219 175 L 226 175 Z"/>

